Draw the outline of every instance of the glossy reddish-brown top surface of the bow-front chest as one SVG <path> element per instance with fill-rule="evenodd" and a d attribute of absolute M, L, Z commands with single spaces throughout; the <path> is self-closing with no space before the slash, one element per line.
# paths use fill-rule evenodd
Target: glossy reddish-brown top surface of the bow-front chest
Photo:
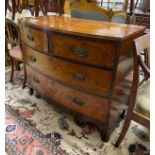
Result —
<path fill-rule="evenodd" d="M 20 19 L 19 23 L 21 22 L 44 30 L 115 41 L 123 41 L 145 30 L 144 26 L 85 20 L 65 16 L 26 17 Z"/>

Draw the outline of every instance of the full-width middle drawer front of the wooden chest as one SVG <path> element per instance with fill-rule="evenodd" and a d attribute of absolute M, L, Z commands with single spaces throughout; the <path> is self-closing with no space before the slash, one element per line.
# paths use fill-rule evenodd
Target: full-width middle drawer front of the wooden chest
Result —
<path fill-rule="evenodd" d="M 112 72 L 52 58 L 23 46 L 26 64 L 67 85 L 80 90 L 108 96 Z"/>

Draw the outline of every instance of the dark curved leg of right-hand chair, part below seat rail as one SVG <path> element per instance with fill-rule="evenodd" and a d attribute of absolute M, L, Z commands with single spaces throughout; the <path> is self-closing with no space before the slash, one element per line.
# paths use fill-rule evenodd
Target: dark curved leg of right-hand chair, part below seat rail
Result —
<path fill-rule="evenodd" d="M 128 131 L 128 128 L 130 126 L 130 123 L 131 123 L 131 119 L 125 120 L 121 134 L 120 134 L 119 138 L 117 139 L 116 143 L 114 144 L 115 147 L 118 147 L 120 145 L 120 143 L 122 142 L 122 140 L 124 139 L 126 132 Z"/>

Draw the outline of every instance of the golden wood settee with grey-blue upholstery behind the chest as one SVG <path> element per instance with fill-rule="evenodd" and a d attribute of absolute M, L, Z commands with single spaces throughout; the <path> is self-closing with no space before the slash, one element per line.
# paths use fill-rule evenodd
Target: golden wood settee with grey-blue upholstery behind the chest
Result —
<path fill-rule="evenodd" d="M 70 2 L 71 17 L 101 20 L 108 22 L 125 23 L 126 11 L 113 11 L 101 8 L 96 2 L 90 0 L 72 0 Z"/>

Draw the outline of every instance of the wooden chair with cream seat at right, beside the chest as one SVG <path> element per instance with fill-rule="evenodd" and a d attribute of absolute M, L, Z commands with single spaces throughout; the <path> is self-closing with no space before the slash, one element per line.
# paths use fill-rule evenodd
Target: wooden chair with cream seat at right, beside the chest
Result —
<path fill-rule="evenodd" d="M 141 52 L 144 51 L 147 55 L 147 63 L 141 58 Z M 122 132 L 115 143 L 118 147 L 122 142 L 131 121 L 135 121 L 146 128 L 150 128 L 150 71 L 149 71 L 149 57 L 150 57 L 150 34 L 146 34 L 134 40 L 134 77 L 132 84 L 132 91 L 129 100 L 129 108 L 127 111 L 125 123 Z M 145 81 L 139 82 L 141 67 L 144 71 Z"/>

